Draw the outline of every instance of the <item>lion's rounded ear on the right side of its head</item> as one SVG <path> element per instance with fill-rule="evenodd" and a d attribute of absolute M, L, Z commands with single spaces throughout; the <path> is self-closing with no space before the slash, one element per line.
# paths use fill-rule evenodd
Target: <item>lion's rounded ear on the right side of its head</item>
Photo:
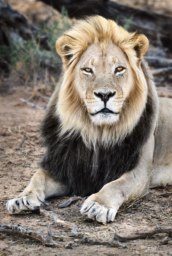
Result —
<path fill-rule="evenodd" d="M 149 47 L 149 40 L 143 34 L 135 35 L 133 43 L 134 43 L 134 51 L 136 52 L 136 56 L 139 60 L 142 59 L 144 54 L 146 54 Z"/>

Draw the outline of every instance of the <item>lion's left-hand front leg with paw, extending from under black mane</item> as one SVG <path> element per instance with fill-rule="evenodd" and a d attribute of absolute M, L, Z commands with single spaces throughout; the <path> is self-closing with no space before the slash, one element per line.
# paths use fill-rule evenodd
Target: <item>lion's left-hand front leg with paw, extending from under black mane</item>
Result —
<path fill-rule="evenodd" d="M 24 191 L 7 202 L 10 213 L 20 213 L 25 210 L 36 210 L 45 199 L 53 196 L 67 196 L 68 188 L 61 182 L 54 181 L 44 170 L 38 170 L 31 178 Z"/>

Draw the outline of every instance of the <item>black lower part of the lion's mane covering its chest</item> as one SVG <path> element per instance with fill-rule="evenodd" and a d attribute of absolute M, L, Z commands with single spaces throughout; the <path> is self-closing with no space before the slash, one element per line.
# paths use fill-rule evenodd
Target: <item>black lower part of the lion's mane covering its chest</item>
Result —
<path fill-rule="evenodd" d="M 151 97 L 148 97 L 138 124 L 120 144 L 108 148 L 97 144 L 96 150 L 88 149 L 79 133 L 70 138 L 66 138 L 66 134 L 60 137 L 60 121 L 54 115 L 55 106 L 49 107 L 40 126 L 46 147 L 41 167 L 54 180 L 64 181 L 73 194 L 88 196 L 98 192 L 103 185 L 137 165 L 140 151 L 150 135 L 153 105 Z"/>

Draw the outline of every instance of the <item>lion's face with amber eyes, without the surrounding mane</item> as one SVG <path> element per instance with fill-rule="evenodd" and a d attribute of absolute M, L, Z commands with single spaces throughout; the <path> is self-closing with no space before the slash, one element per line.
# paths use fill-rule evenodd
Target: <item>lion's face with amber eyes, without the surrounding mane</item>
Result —
<path fill-rule="evenodd" d="M 126 55 L 114 44 L 92 44 L 75 67 L 75 84 L 95 125 L 117 122 L 132 87 Z M 130 74 L 130 75 L 128 75 Z"/>

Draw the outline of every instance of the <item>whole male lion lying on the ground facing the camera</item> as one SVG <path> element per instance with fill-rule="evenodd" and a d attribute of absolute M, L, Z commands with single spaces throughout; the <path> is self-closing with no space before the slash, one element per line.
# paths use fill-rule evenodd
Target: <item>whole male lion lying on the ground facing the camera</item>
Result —
<path fill-rule="evenodd" d="M 11 213 L 38 209 L 46 198 L 89 196 L 81 213 L 113 221 L 124 201 L 172 184 L 171 102 L 158 98 L 143 59 L 144 35 L 91 16 L 57 40 L 64 71 L 41 123 L 41 169 Z"/>

